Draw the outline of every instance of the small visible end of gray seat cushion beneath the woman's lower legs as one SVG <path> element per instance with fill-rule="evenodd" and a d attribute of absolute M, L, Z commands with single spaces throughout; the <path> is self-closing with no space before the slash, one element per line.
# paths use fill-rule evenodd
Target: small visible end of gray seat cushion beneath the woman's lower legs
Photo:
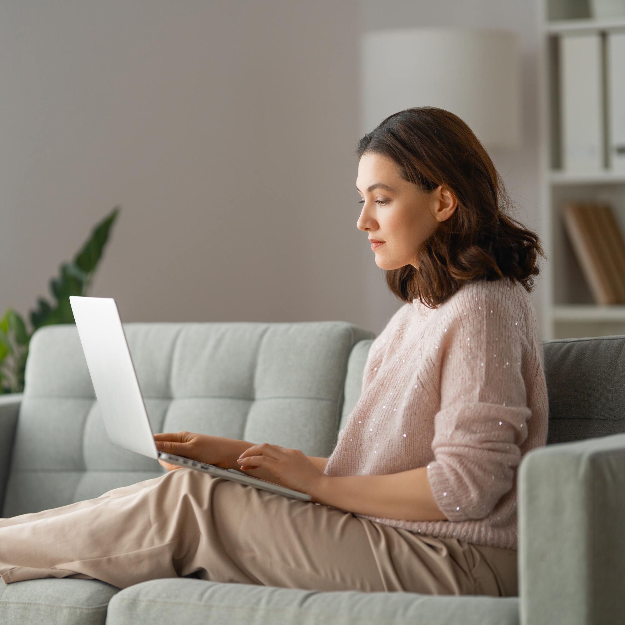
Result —
<path fill-rule="evenodd" d="M 118 587 L 99 579 L 0 580 L 0 623 L 104 625 L 109 599 L 116 592 Z"/>

